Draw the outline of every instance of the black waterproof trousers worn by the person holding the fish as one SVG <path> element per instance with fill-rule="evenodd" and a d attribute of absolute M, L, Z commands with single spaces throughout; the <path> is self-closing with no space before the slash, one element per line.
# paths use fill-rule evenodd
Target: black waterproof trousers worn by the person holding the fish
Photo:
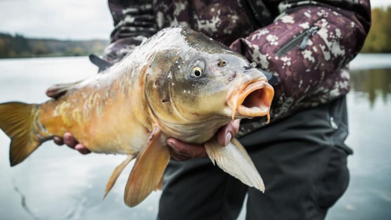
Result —
<path fill-rule="evenodd" d="M 346 98 L 274 122 L 239 141 L 254 161 L 265 193 L 242 184 L 209 158 L 171 161 L 159 220 L 231 220 L 243 199 L 247 220 L 321 220 L 345 192 L 349 173 Z"/>

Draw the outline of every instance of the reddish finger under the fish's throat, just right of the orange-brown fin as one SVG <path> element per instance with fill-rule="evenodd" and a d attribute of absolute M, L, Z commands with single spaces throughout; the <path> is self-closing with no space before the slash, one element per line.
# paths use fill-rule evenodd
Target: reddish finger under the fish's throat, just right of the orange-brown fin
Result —
<path fill-rule="evenodd" d="M 174 150 L 174 152 L 191 158 L 207 156 L 205 147 L 200 144 L 188 144 L 175 138 L 167 139 L 167 144 Z"/>

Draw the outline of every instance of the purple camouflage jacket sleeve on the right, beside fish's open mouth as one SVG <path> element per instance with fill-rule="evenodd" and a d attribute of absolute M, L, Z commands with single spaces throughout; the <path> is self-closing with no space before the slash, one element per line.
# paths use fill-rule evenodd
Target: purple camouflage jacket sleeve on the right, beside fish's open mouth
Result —
<path fill-rule="evenodd" d="M 278 5 L 281 14 L 273 23 L 231 44 L 232 49 L 278 76 L 272 121 L 348 92 L 345 66 L 364 44 L 370 6 L 369 0 L 342 2 L 284 1 Z"/>

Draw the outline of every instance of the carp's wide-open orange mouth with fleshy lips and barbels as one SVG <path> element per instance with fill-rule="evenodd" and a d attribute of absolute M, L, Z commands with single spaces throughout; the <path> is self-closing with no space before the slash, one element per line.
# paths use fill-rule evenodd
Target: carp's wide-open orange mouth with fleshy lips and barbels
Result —
<path fill-rule="evenodd" d="M 235 118 L 251 118 L 267 116 L 270 121 L 270 106 L 274 96 L 274 89 L 265 80 L 245 83 L 236 88 L 228 99 L 228 106 L 232 110 L 232 121 Z"/>

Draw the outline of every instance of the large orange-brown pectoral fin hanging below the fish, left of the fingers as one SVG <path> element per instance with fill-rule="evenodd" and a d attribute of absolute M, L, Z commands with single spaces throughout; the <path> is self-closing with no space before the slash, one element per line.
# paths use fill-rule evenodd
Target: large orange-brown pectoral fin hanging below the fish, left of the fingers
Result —
<path fill-rule="evenodd" d="M 142 202 L 159 187 L 164 170 L 170 160 L 170 149 L 163 142 L 162 132 L 155 128 L 147 144 L 138 154 L 126 183 L 124 200 L 130 207 Z"/>

